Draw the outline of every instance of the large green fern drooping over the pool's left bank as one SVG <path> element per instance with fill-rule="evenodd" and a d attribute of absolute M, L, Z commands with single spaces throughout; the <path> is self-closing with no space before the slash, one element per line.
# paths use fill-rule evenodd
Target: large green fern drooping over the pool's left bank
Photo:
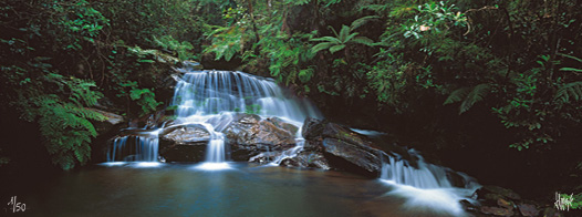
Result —
<path fill-rule="evenodd" d="M 89 110 L 103 96 L 91 90 L 92 81 L 64 78 L 49 73 L 41 81 L 55 84 L 53 93 L 38 91 L 23 93 L 19 100 L 24 118 L 37 121 L 46 151 L 52 162 L 63 169 L 71 169 L 76 164 L 84 165 L 91 157 L 91 140 L 97 132 L 91 121 L 105 121 L 98 112 Z M 65 97 L 67 96 L 67 97 Z"/>

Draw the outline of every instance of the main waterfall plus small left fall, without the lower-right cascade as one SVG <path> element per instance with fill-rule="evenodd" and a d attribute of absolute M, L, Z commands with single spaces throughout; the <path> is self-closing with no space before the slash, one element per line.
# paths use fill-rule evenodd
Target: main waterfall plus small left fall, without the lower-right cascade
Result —
<path fill-rule="evenodd" d="M 195 71 L 191 66 L 179 69 L 179 78 L 172 105 L 176 106 L 176 124 L 199 124 L 210 134 L 205 163 L 207 168 L 224 168 L 226 157 L 225 135 L 220 132 L 229 120 L 226 114 L 243 112 L 262 117 L 280 117 L 301 126 L 306 116 L 321 117 L 320 112 L 308 100 L 290 96 L 272 79 L 233 71 Z M 221 115 L 215 126 L 207 121 Z M 227 118 L 225 118 L 227 117 Z M 225 120 L 222 120 L 225 118 Z M 157 162 L 159 130 L 126 128 L 124 136 L 115 138 L 108 162 Z M 293 156 L 302 149 L 300 133 L 298 146 L 285 152 Z M 281 158 L 282 159 L 282 158 Z M 280 162 L 281 159 L 277 159 Z"/>

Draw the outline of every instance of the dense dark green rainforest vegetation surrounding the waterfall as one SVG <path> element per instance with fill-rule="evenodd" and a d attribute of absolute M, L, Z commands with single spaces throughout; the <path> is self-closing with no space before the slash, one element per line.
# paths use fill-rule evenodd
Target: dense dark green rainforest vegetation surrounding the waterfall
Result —
<path fill-rule="evenodd" d="M 581 7 L 7 0 L 0 112 L 20 121 L 4 118 L 2 127 L 34 123 L 55 165 L 86 164 L 94 124 L 105 118 L 92 107 L 128 117 L 164 108 L 168 65 L 191 60 L 276 78 L 328 117 L 391 132 L 481 180 L 580 190 L 573 184 L 582 175 Z M 29 144 L 0 148 L 17 145 Z M 2 149 L 7 164 L 10 152 Z"/>

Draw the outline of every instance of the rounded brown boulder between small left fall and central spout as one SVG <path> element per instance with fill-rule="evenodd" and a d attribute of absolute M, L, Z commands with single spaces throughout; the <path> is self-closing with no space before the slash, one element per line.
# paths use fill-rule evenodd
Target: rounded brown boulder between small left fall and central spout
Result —
<path fill-rule="evenodd" d="M 159 134 L 159 156 L 167 162 L 202 162 L 210 133 L 199 124 L 174 125 Z"/>

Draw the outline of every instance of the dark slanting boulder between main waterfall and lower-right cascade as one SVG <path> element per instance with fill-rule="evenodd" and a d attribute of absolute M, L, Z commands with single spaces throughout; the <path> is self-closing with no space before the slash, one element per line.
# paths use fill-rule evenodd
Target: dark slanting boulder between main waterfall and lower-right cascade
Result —
<path fill-rule="evenodd" d="M 380 176 L 385 153 L 365 136 L 342 125 L 306 118 L 302 135 L 305 149 L 322 152 L 334 168 L 350 170 L 372 177 Z"/>

